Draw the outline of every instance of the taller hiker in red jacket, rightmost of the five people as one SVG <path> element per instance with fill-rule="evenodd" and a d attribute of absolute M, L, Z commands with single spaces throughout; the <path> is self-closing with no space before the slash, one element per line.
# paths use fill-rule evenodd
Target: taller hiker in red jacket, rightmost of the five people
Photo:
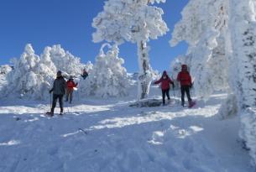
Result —
<path fill-rule="evenodd" d="M 187 65 L 181 65 L 181 71 L 177 76 L 177 81 L 180 82 L 180 89 L 181 89 L 181 106 L 184 107 L 184 96 L 186 93 L 187 100 L 189 102 L 189 106 L 191 106 L 192 99 L 191 99 L 191 92 L 190 88 L 192 86 L 191 75 L 187 70 Z"/>

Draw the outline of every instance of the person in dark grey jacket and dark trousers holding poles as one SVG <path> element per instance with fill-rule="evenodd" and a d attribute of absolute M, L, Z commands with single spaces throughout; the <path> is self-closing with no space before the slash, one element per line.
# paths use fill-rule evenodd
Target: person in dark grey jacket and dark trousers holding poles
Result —
<path fill-rule="evenodd" d="M 61 75 L 61 71 L 57 72 L 57 77 L 54 81 L 54 86 L 50 89 L 50 93 L 53 92 L 53 102 L 50 109 L 50 115 L 53 116 L 55 112 L 55 107 L 57 100 L 60 103 L 60 115 L 63 114 L 63 96 L 65 95 L 66 82 L 64 77 Z"/>

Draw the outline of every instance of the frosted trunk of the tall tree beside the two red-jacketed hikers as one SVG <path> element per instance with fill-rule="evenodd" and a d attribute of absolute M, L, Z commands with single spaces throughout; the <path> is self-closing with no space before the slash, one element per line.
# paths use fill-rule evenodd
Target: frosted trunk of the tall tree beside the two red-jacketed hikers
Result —
<path fill-rule="evenodd" d="M 149 65 L 149 54 L 146 41 L 138 41 L 138 99 L 149 96 L 149 86 L 152 81 L 151 67 Z"/>

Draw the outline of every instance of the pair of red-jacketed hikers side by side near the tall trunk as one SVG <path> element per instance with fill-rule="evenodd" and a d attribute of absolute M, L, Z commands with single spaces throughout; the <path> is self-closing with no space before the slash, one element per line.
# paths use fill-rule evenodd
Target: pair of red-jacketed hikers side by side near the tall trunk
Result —
<path fill-rule="evenodd" d="M 185 94 L 187 96 L 189 107 L 192 106 L 192 99 L 191 99 L 191 92 L 190 89 L 192 87 L 191 75 L 187 70 L 187 65 L 181 65 L 181 71 L 179 72 L 177 81 L 180 82 L 180 91 L 181 91 L 181 106 L 184 107 L 185 105 Z M 163 105 L 165 105 L 165 95 L 167 96 L 168 100 L 170 100 L 170 84 L 172 85 L 173 89 L 175 88 L 175 84 L 171 81 L 170 77 L 167 75 L 167 72 L 164 71 L 162 77 L 159 81 L 155 81 L 154 84 L 161 83 L 162 89 L 162 97 L 163 97 Z"/>

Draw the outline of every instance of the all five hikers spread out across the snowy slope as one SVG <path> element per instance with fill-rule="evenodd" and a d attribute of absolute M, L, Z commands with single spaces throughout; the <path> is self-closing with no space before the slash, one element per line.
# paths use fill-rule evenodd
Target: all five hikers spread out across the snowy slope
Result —
<path fill-rule="evenodd" d="M 88 73 L 86 70 L 83 70 L 81 77 L 83 79 L 86 79 L 88 76 Z M 191 93 L 190 89 L 192 86 L 191 81 L 191 75 L 189 71 L 187 70 L 187 65 L 181 65 L 181 71 L 177 76 L 177 81 L 180 82 L 180 91 L 181 91 L 181 106 L 184 107 L 185 105 L 185 93 L 189 102 L 189 106 L 191 106 L 192 99 L 191 99 Z M 155 81 L 154 84 L 161 84 L 162 89 L 162 97 L 163 97 L 163 105 L 165 105 L 165 95 L 167 96 L 168 100 L 170 100 L 170 84 L 172 85 L 173 89 L 175 88 L 174 82 L 170 79 L 167 72 L 164 71 L 162 77 L 159 79 L 159 81 Z M 52 89 L 50 89 L 50 93 L 53 92 L 53 101 L 52 106 L 49 112 L 50 116 L 54 115 L 56 103 L 59 100 L 60 103 L 60 115 L 63 114 L 63 97 L 65 96 L 66 92 L 66 98 L 65 102 L 72 102 L 72 96 L 74 88 L 77 86 L 78 83 L 74 82 L 74 78 L 70 76 L 70 79 L 68 81 L 65 81 L 64 77 L 61 74 L 61 71 L 59 70 L 57 72 L 57 77 L 54 81 L 54 85 Z"/>

